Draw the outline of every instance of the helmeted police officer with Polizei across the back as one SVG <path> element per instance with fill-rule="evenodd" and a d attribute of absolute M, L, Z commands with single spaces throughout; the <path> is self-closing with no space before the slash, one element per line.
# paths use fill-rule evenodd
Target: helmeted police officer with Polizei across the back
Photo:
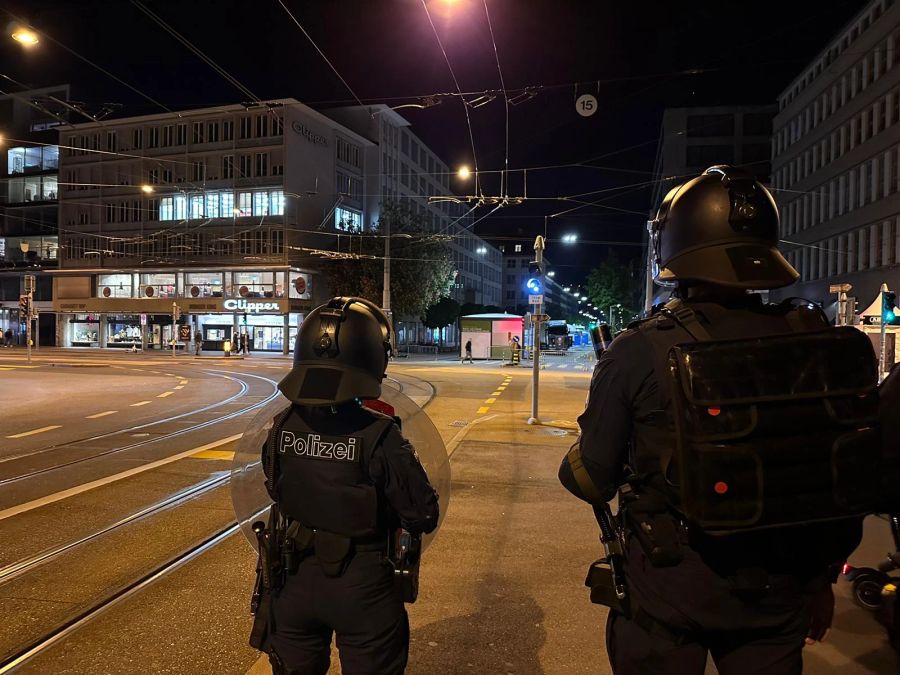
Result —
<path fill-rule="evenodd" d="M 387 542 L 398 527 L 434 530 L 438 501 L 397 423 L 362 405 L 381 394 L 390 331 L 373 303 L 334 298 L 303 321 L 279 384 L 292 405 L 263 450 L 271 592 L 251 637 L 276 675 L 326 673 L 333 632 L 347 675 L 406 668 L 409 623 Z"/>

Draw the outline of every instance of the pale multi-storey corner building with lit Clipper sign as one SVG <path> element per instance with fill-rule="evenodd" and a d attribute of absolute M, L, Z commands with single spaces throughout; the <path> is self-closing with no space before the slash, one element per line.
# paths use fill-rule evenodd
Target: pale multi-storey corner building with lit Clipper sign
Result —
<path fill-rule="evenodd" d="M 293 99 L 60 129 L 58 344 L 287 353 L 318 256 L 377 217 L 372 143 Z M 177 322 L 173 315 L 182 314 Z"/>

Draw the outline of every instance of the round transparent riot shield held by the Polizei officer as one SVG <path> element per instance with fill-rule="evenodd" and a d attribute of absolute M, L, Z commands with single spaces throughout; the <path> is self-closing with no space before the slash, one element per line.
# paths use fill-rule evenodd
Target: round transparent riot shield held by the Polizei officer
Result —
<path fill-rule="evenodd" d="M 438 527 L 430 535 L 422 538 L 424 550 L 440 530 L 450 505 L 450 461 L 447 457 L 447 448 L 431 419 L 408 396 L 385 387 L 381 400 L 394 408 L 396 416 L 400 418 L 403 436 L 416 449 L 428 479 L 438 492 L 440 503 Z M 254 550 L 256 550 L 256 535 L 253 533 L 253 523 L 265 520 L 269 505 L 272 503 L 266 492 L 262 448 L 275 417 L 288 406 L 290 402 L 279 395 L 263 407 L 247 425 L 234 453 L 231 466 L 231 503 L 241 530 Z"/>

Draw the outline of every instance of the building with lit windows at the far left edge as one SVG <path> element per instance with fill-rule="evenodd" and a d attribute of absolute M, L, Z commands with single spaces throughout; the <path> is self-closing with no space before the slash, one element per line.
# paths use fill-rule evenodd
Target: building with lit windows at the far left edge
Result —
<path fill-rule="evenodd" d="M 36 340 L 52 344 L 52 280 L 59 248 L 59 147 L 56 128 L 68 111 L 68 85 L 0 96 L 0 331 L 16 344 L 25 341 L 19 311 L 24 277 L 34 275 Z"/>

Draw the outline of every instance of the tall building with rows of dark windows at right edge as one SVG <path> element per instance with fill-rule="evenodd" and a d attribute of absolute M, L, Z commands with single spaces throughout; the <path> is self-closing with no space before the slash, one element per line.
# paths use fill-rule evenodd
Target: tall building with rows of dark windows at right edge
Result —
<path fill-rule="evenodd" d="M 778 98 L 773 186 L 800 272 L 778 292 L 866 307 L 900 287 L 900 3 L 872 0 Z M 773 294 L 776 295 L 776 294 Z"/>

